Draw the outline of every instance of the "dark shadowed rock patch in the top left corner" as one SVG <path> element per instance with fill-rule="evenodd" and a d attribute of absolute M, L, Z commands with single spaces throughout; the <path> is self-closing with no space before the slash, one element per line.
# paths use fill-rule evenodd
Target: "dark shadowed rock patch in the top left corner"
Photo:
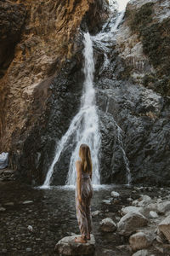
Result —
<path fill-rule="evenodd" d="M 0 2 L 0 78 L 13 60 L 25 18 L 26 9 L 22 4 Z"/>

